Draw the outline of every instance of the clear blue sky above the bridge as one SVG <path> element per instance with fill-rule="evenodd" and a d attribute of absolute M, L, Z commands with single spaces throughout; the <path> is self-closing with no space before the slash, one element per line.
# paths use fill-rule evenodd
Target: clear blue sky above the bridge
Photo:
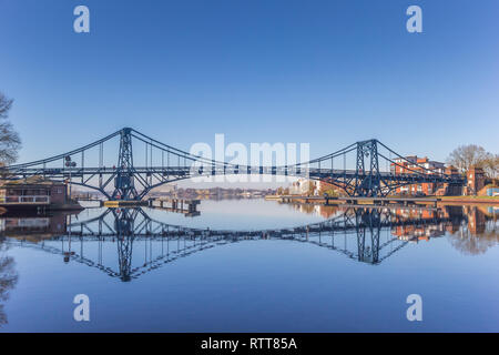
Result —
<path fill-rule="evenodd" d="M 0 0 L 0 90 L 20 161 L 125 125 L 186 150 L 225 133 L 314 158 L 378 138 L 445 160 L 499 152 L 498 19 L 497 0 Z"/>

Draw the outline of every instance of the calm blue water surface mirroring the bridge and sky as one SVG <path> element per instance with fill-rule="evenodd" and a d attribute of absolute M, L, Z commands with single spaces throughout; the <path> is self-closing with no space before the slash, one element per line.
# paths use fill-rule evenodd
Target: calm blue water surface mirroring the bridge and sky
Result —
<path fill-rule="evenodd" d="M 497 207 L 198 210 L 2 216 L 0 329 L 499 332 Z M 73 320 L 77 294 L 90 322 Z"/>

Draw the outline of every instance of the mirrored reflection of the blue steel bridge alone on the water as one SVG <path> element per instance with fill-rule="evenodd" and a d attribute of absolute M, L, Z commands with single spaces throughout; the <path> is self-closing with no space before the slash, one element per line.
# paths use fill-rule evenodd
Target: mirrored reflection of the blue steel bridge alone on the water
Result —
<path fill-rule="evenodd" d="M 128 282 L 215 246 L 259 240 L 309 243 L 376 265 L 417 239 L 417 231 L 430 229 L 440 235 L 444 225 L 455 222 L 438 214 L 410 219 L 389 209 L 366 207 L 347 209 L 327 221 L 304 226 L 235 231 L 172 225 L 151 219 L 142 209 L 109 209 L 94 219 L 69 224 L 63 235 L 38 243 L 11 237 L 8 243 L 62 255 L 67 262 L 82 263 Z M 406 237 L 393 235 L 394 227 L 408 231 Z M 118 248 L 118 270 L 104 265 L 105 246 Z M 132 256 L 139 258 L 141 254 L 143 262 L 132 263 Z"/>

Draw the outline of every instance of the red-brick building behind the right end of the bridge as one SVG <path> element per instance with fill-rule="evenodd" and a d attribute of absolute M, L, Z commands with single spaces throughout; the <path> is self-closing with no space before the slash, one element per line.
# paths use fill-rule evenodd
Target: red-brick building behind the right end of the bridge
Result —
<path fill-rule="evenodd" d="M 417 155 L 406 156 L 405 159 L 396 159 L 391 163 L 390 171 L 393 174 L 442 174 L 446 171 L 444 163 L 430 161 L 427 156 L 418 158 Z M 409 195 L 435 195 L 441 186 L 437 183 L 420 183 L 405 185 L 396 189 L 396 193 Z"/>

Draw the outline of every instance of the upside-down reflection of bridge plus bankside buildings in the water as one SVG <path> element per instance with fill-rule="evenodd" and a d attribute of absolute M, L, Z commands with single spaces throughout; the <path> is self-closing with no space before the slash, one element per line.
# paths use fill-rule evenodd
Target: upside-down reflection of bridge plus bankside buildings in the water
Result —
<path fill-rule="evenodd" d="M 215 246 L 257 240 L 309 243 L 368 264 L 379 264 L 410 242 L 429 240 L 446 232 L 476 234 L 497 223 L 477 207 L 346 209 L 328 220 L 308 225 L 258 231 L 210 230 L 172 225 L 152 219 L 143 209 L 108 209 L 101 215 L 72 222 L 70 215 L 0 219 L 7 243 L 62 255 L 95 267 L 112 277 L 131 281 Z M 96 244 L 96 251 L 95 251 Z M 103 248 L 116 245 L 116 260 L 104 263 Z M 132 264 L 134 246 L 143 248 L 143 263 Z M 90 251 L 89 251 L 90 248 Z M 86 251 L 85 251 L 86 250 Z M 135 258 L 139 258 L 135 251 Z M 111 264 L 111 265 L 110 265 Z"/>

